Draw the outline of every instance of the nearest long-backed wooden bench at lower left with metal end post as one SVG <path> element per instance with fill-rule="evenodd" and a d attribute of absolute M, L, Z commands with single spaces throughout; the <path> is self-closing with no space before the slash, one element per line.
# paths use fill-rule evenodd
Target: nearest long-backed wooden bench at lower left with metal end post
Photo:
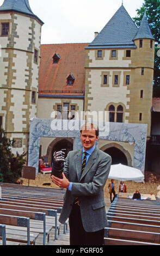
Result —
<path fill-rule="evenodd" d="M 42 234 L 43 234 L 43 245 L 46 243 L 46 234 L 50 233 L 50 230 L 46 230 L 46 214 L 44 212 L 29 212 L 29 211 L 17 211 L 13 209 L 0 209 L 0 214 L 2 215 L 12 215 L 12 216 L 20 216 L 20 217 L 28 217 L 30 218 L 30 231 L 33 231 L 35 233 L 41 233 L 40 230 L 32 230 L 32 221 L 41 221 L 42 222 Z M 13 229 L 13 228 L 12 228 Z M 16 227 L 17 229 L 17 227 Z"/>

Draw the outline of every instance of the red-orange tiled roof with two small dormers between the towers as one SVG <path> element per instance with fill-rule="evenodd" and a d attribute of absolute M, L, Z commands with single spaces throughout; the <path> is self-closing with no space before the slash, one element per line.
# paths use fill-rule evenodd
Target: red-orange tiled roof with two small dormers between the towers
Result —
<path fill-rule="evenodd" d="M 87 46 L 88 44 L 41 45 L 40 95 L 84 95 Z M 58 64 L 53 64 L 55 53 L 60 56 Z M 70 74 L 75 77 L 73 86 L 66 85 L 66 78 Z"/>

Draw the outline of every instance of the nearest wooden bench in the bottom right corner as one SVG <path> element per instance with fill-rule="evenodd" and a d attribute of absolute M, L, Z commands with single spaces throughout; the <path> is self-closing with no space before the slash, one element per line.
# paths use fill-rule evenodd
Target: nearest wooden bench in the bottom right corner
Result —
<path fill-rule="evenodd" d="M 149 246 L 149 245 L 159 245 L 159 244 L 104 237 L 104 245 L 148 245 Z"/>

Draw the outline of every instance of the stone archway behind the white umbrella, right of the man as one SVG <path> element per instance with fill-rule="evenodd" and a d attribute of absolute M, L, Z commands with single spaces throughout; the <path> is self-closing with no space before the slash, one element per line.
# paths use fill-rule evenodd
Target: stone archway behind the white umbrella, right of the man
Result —
<path fill-rule="evenodd" d="M 127 150 L 125 150 L 120 144 L 109 143 L 109 144 L 104 145 L 101 148 L 101 150 L 106 152 L 107 154 L 109 154 L 109 153 L 113 154 L 113 157 L 114 157 L 114 154 L 116 154 L 116 153 L 119 154 L 119 156 L 122 157 L 122 161 L 121 161 L 122 164 L 132 166 L 132 157 L 131 157 L 130 153 Z M 126 161 L 125 161 L 125 159 L 126 159 Z M 116 161 L 113 160 L 112 164 L 114 164 L 114 163 L 116 163 Z"/>

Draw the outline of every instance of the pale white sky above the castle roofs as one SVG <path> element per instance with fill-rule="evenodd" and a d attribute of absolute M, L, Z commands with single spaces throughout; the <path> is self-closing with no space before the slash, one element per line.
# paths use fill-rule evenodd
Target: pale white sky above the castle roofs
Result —
<path fill-rule="evenodd" d="M 144 0 L 29 0 L 30 8 L 45 24 L 41 44 L 84 43 L 94 40 L 115 12 L 124 4 L 136 17 Z M 4 0 L 0 0 L 0 5 Z"/>

